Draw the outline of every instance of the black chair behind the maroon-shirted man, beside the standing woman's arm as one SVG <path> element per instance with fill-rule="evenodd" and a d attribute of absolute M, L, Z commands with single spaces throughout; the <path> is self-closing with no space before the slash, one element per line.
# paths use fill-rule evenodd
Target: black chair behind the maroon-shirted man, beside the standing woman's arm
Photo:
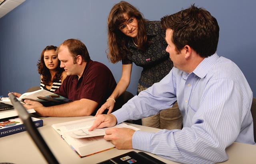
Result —
<path fill-rule="evenodd" d="M 123 94 L 121 94 L 117 99 L 116 99 L 116 103 L 115 103 L 115 106 L 114 106 L 114 109 L 113 109 L 113 112 L 122 108 L 122 106 L 128 102 L 131 98 L 133 98 L 133 94 L 131 92 L 128 92 L 128 91 L 124 91 Z M 138 125 L 142 125 L 141 124 L 141 119 L 139 120 L 127 120 L 125 122 L 128 122 L 128 123 L 132 123 L 132 124 L 138 124 Z"/>

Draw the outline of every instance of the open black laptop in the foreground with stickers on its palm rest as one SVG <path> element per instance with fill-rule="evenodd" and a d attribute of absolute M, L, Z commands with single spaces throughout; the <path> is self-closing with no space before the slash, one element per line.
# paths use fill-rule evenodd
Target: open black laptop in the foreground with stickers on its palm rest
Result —
<path fill-rule="evenodd" d="M 52 154 L 50 148 L 47 146 L 47 144 L 44 141 L 44 139 L 42 138 L 41 134 L 36 129 L 27 110 L 24 108 L 24 106 L 19 102 L 19 100 L 13 94 L 10 94 L 9 98 L 12 102 L 12 105 L 17 110 L 20 119 L 23 121 L 24 126 L 26 126 L 26 129 L 27 129 L 30 137 L 35 142 L 36 146 L 41 151 L 41 153 L 44 156 L 44 158 L 46 159 L 46 161 L 49 164 L 58 164 L 57 159 Z M 99 164 L 132 164 L 132 163 L 135 163 L 135 164 L 139 164 L 139 163 L 165 164 L 164 162 L 162 162 L 144 152 L 137 153 L 134 151 L 122 154 L 120 156 L 116 156 L 109 160 L 100 162 Z"/>

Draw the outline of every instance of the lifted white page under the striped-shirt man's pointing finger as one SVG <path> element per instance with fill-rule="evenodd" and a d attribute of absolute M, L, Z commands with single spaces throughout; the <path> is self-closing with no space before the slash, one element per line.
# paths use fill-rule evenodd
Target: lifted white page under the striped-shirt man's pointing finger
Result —
<path fill-rule="evenodd" d="M 93 131 L 89 132 L 88 131 L 89 128 L 74 130 L 72 132 L 67 132 L 66 134 L 73 138 L 87 138 L 87 137 L 95 137 L 95 136 L 104 136 L 106 134 L 105 130 L 109 129 L 109 128 L 94 129 Z M 130 126 L 124 123 L 117 124 L 116 126 L 113 126 L 110 128 L 130 128 L 133 130 L 140 130 L 139 128 L 135 128 L 133 126 Z"/>

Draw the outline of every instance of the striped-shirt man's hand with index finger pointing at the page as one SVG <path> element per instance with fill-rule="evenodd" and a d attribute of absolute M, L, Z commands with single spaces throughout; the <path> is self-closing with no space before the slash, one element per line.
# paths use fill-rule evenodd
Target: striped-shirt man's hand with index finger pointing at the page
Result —
<path fill-rule="evenodd" d="M 105 128 L 112 127 L 116 125 L 116 117 L 113 114 L 100 114 L 97 116 L 96 120 L 93 122 L 92 127 L 88 131 L 92 131 L 95 128 Z"/>

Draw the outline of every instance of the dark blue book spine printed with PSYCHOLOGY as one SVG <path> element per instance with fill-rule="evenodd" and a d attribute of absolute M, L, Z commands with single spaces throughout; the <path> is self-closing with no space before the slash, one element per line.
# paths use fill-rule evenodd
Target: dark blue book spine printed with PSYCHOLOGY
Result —
<path fill-rule="evenodd" d="M 34 122 L 36 128 L 39 128 L 39 127 L 43 126 L 43 120 L 36 120 L 36 121 L 33 121 L 33 122 Z M 25 130 L 26 130 L 26 127 L 24 126 L 24 124 L 20 124 L 20 125 L 11 126 L 11 127 L 8 127 L 8 128 L 0 129 L 0 138 L 4 137 L 4 136 L 11 135 L 11 134 L 23 132 Z"/>

